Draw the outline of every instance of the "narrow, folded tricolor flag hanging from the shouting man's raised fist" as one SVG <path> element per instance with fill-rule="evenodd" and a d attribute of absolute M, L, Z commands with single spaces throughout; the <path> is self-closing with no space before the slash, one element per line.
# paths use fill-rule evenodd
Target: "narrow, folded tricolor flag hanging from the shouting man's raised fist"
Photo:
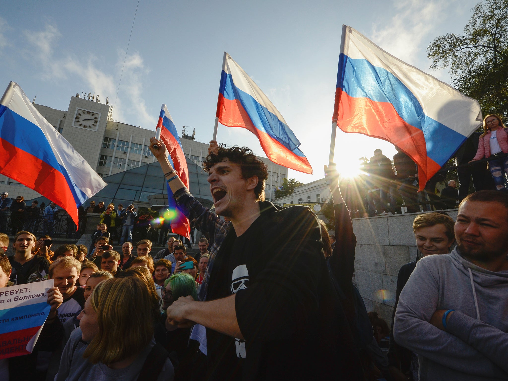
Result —
<path fill-rule="evenodd" d="M 175 169 L 180 177 L 180 180 L 189 187 L 189 176 L 187 170 L 187 161 L 185 160 L 185 154 L 183 153 L 182 143 L 178 138 L 178 132 L 176 131 L 175 123 L 171 117 L 168 108 L 165 104 L 161 107 L 161 114 L 157 122 L 157 128 L 161 129 L 161 140 L 166 146 L 169 152 L 169 162 Z M 190 238 L 190 224 L 189 220 L 185 215 L 176 207 L 175 199 L 173 198 L 173 192 L 168 185 L 168 204 L 170 211 L 175 211 L 174 217 L 170 218 L 171 231 L 179 234 L 183 237 Z"/>

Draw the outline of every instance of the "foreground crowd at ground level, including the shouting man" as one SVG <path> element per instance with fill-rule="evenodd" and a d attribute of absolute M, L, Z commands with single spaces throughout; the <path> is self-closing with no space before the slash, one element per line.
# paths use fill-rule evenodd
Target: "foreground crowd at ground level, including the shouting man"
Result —
<path fill-rule="evenodd" d="M 103 229 L 111 205 L 89 248 L 53 251 L 50 235 L 27 230 L 11 246 L 0 234 L 0 287 L 54 280 L 34 352 L 0 360 L 0 378 L 508 379 L 506 193 L 465 196 L 456 221 L 416 216 L 419 256 L 399 271 L 390 327 L 355 286 L 356 236 L 335 168 L 325 166 L 330 235 L 310 208 L 264 200 L 266 165 L 246 147 L 211 142 L 203 168 L 213 212 L 178 178 L 164 144 L 152 138 L 150 149 L 203 235 L 199 253 L 175 237 L 157 253 L 148 239 L 113 250 Z M 379 194 L 388 200 L 390 188 Z"/>

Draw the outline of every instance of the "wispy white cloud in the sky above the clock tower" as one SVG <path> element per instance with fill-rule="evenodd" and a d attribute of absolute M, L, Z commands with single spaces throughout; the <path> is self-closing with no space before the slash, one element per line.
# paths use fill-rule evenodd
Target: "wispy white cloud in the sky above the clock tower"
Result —
<path fill-rule="evenodd" d="M 1 21 L 1 20 L 0 20 Z M 0 32 L 2 24 L 0 23 Z M 100 60 L 89 52 L 88 60 L 78 59 L 76 54 L 62 53 L 56 49 L 61 37 L 58 28 L 46 24 L 41 31 L 25 31 L 24 33 L 31 49 L 27 51 L 30 58 L 37 62 L 44 80 L 67 81 L 70 86 L 82 82 L 95 94 L 101 96 L 102 103 L 109 97 L 113 106 L 118 88 L 118 81 L 122 70 L 125 52 L 119 52 L 118 60 L 111 72 L 99 68 Z M 2 35 L 0 34 L 0 42 Z M 0 46 L 1 47 L 1 46 Z M 113 117 L 117 120 L 128 121 L 130 124 L 142 125 L 144 128 L 154 128 L 156 118 L 147 111 L 142 97 L 143 79 L 149 70 L 145 68 L 143 58 L 138 52 L 128 54 L 123 69 L 120 92 L 113 110 Z"/>

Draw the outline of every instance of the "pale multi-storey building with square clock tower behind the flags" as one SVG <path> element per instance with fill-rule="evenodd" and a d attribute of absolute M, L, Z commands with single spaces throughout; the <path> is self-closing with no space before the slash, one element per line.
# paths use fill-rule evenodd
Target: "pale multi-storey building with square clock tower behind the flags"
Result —
<path fill-rule="evenodd" d="M 148 146 L 155 135 L 155 126 L 145 129 L 113 119 L 112 107 L 99 102 L 90 93 L 71 97 L 67 111 L 33 103 L 51 125 L 67 139 L 101 177 L 133 169 L 155 161 Z M 210 137 L 211 139 L 211 132 Z M 205 139 L 206 140 L 206 139 Z M 195 140 L 193 135 L 180 138 L 185 156 L 201 167 L 208 154 L 208 143 Z M 288 169 L 260 156 L 268 165 L 266 198 L 273 200 L 274 190 L 288 176 Z M 107 182 L 107 179 L 105 179 Z M 23 196 L 25 200 L 40 194 L 19 182 L 0 175 L 0 192 L 10 198 Z"/>

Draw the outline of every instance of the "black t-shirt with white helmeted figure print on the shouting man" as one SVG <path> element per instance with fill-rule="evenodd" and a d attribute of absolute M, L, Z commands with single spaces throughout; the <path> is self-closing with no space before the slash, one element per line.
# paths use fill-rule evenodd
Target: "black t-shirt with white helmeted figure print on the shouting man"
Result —
<path fill-rule="evenodd" d="M 208 289 L 209 300 L 225 298 L 248 287 L 253 259 L 261 252 L 261 225 L 262 217 L 258 217 L 240 237 L 234 229 L 228 234 L 224 250 L 213 266 L 216 271 Z M 241 379 L 246 343 L 211 329 L 206 330 L 206 336 L 210 370 L 215 370 L 213 379 Z"/>

